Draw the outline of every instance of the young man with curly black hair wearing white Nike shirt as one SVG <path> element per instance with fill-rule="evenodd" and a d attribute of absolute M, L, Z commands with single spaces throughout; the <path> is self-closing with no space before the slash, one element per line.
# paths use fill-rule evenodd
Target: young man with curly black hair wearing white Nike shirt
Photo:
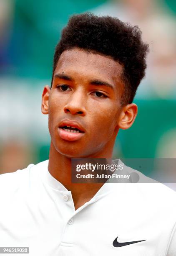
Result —
<path fill-rule="evenodd" d="M 119 129 L 133 124 L 147 51 L 138 27 L 89 13 L 70 18 L 42 94 L 49 160 L 0 176 L 0 247 L 34 256 L 176 255 L 171 189 L 71 182 L 71 159 L 111 159 Z"/>

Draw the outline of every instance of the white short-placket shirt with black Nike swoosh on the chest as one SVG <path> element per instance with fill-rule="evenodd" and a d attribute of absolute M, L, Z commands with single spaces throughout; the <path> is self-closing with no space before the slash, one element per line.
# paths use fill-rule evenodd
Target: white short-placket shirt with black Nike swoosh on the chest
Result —
<path fill-rule="evenodd" d="M 0 247 L 29 247 L 31 256 L 175 256 L 176 192 L 105 183 L 75 210 L 48 160 L 30 164 L 0 175 Z"/>

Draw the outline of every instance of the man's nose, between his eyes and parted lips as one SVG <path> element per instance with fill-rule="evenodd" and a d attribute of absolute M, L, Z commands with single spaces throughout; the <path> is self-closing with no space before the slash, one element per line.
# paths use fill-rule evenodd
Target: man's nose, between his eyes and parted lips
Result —
<path fill-rule="evenodd" d="M 85 115 L 85 97 L 83 96 L 83 92 L 73 92 L 64 107 L 64 112 L 72 115 Z"/>

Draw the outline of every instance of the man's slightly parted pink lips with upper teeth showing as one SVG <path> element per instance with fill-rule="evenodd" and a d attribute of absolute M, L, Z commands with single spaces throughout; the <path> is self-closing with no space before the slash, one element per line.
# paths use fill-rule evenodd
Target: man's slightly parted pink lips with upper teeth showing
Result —
<path fill-rule="evenodd" d="M 85 129 L 78 121 L 68 119 L 59 124 L 58 130 L 60 137 L 66 141 L 76 141 L 85 133 Z"/>

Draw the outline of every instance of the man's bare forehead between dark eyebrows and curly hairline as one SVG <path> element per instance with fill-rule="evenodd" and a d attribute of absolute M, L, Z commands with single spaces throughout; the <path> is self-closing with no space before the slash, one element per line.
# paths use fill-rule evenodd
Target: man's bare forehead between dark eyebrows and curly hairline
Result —
<path fill-rule="evenodd" d="M 95 76 L 110 79 L 113 82 L 115 80 L 120 82 L 123 67 L 111 57 L 74 48 L 66 50 L 60 55 L 55 73 L 58 71 L 73 72 L 86 77 Z"/>

